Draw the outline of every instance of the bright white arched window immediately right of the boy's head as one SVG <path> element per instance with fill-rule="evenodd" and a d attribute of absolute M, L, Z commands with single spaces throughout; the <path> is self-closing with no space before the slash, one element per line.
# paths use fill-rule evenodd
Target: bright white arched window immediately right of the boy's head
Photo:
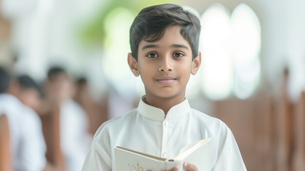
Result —
<path fill-rule="evenodd" d="M 202 15 L 201 25 L 201 88 L 209 98 L 223 99 L 230 95 L 233 86 L 229 11 L 221 4 L 213 4 Z"/>

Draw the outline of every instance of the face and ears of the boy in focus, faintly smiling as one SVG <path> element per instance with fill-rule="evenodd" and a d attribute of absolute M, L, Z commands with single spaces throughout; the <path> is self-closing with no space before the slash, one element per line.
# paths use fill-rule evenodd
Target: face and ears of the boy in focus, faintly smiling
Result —
<path fill-rule="evenodd" d="M 192 60 L 191 47 L 180 34 L 180 26 L 169 26 L 156 42 L 141 40 L 138 60 L 128 62 L 135 76 L 141 76 L 147 98 L 185 98 L 190 74 L 195 75 L 201 56 Z"/>

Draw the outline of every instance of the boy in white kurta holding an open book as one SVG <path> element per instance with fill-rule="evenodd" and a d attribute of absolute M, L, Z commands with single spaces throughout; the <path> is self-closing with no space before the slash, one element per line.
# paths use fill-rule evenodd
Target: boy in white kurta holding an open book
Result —
<path fill-rule="evenodd" d="M 185 98 L 190 74 L 196 74 L 201 61 L 199 34 L 199 19 L 178 5 L 140 11 L 130 29 L 128 64 L 141 76 L 146 95 L 138 108 L 101 125 L 83 171 L 115 171 L 115 146 L 173 158 L 182 147 L 206 137 L 211 137 L 210 171 L 246 171 L 229 128 L 191 109 Z M 197 171 L 190 163 L 184 169 Z"/>

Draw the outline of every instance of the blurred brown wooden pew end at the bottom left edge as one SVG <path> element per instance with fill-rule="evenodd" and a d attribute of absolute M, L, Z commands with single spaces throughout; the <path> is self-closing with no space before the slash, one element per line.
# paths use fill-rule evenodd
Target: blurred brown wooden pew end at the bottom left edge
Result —
<path fill-rule="evenodd" d="M 9 124 L 5 114 L 0 114 L 0 171 L 12 171 Z"/>

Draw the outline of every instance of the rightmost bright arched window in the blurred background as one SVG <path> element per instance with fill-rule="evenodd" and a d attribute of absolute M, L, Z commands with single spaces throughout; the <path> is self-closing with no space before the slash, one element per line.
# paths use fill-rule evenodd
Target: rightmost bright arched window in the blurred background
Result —
<path fill-rule="evenodd" d="M 231 55 L 234 63 L 234 95 L 245 99 L 259 83 L 261 28 L 254 11 L 239 4 L 231 15 Z"/>

